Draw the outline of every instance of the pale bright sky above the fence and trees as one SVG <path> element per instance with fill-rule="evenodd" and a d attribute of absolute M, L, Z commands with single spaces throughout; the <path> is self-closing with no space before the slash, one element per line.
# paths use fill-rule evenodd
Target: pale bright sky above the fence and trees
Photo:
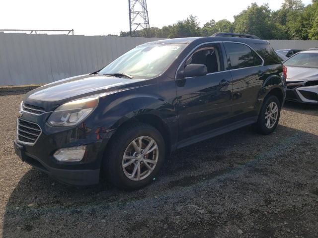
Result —
<path fill-rule="evenodd" d="M 147 5 L 151 27 L 172 25 L 190 14 L 202 26 L 211 19 L 234 21 L 252 2 L 277 10 L 283 0 L 147 0 Z M 75 35 L 129 30 L 128 0 L 1 0 L 0 8 L 0 29 L 74 29 Z"/>

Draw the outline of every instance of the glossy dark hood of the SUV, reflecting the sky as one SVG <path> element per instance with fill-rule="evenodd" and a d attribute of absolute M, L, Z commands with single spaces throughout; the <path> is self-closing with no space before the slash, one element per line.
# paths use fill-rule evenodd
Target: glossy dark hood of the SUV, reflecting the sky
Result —
<path fill-rule="evenodd" d="M 48 110 L 63 103 L 105 92 L 139 87 L 145 79 L 129 79 L 101 75 L 80 75 L 46 84 L 28 92 L 23 102 Z"/>

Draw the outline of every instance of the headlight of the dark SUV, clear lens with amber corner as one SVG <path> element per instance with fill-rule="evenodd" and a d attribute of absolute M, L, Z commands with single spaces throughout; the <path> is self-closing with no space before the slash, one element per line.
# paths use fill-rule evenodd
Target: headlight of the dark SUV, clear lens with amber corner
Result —
<path fill-rule="evenodd" d="M 98 105 L 98 98 L 84 98 L 58 107 L 49 117 L 53 126 L 72 126 L 87 118 Z"/>

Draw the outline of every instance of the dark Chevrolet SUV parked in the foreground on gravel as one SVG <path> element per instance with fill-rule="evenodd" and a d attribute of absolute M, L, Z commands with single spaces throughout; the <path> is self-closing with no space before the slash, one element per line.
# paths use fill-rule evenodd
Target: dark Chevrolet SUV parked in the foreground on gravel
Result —
<path fill-rule="evenodd" d="M 16 153 L 61 182 L 140 188 L 171 151 L 254 124 L 277 126 L 286 70 L 269 43 L 238 37 L 167 39 L 103 69 L 27 93 Z"/>

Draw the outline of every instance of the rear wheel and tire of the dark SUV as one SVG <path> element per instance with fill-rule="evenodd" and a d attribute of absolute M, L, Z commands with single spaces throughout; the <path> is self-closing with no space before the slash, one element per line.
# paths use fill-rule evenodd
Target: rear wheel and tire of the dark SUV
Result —
<path fill-rule="evenodd" d="M 275 119 L 275 122 L 273 122 L 272 119 L 268 118 L 269 112 L 270 112 L 270 105 L 277 106 L 277 116 L 274 114 L 271 114 L 273 116 L 272 118 Z M 255 123 L 256 130 L 264 135 L 268 135 L 272 133 L 278 124 L 279 118 L 280 118 L 280 110 L 281 110 L 281 105 L 278 100 L 278 98 L 275 95 L 268 95 L 264 99 L 263 106 L 259 112 L 257 122 Z M 272 110 L 274 112 L 274 110 Z M 266 117 L 266 118 L 265 118 Z M 270 125 L 268 126 L 268 120 L 270 120 Z"/>

